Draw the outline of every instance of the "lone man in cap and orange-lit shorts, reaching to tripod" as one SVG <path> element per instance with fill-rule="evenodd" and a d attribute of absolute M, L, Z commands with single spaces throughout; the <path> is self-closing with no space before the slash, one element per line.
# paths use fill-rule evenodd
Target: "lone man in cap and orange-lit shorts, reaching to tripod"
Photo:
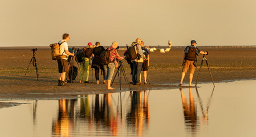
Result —
<path fill-rule="evenodd" d="M 181 75 L 181 82 L 178 86 L 182 85 L 183 79 L 185 77 L 186 71 L 188 71 L 189 68 L 189 86 L 192 86 L 192 79 L 193 79 L 193 73 L 195 72 L 195 66 L 196 66 L 196 55 L 204 54 L 207 55 L 208 52 L 204 52 L 199 50 L 196 47 L 196 40 L 191 40 L 191 46 L 187 46 L 184 50 L 184 61 L 183 61 L 183 69 L 182 69 L 182 75 Z"/>

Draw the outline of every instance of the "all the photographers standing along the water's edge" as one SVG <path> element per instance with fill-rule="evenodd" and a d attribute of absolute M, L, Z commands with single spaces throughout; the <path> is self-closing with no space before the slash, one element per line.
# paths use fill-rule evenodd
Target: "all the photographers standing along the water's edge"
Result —
<path fill-rule="evenodd" d="M 69 34 L 63 34 L 63 40 L 60 40 L 58 44 L 60 45 L 60 53 L 61 58 L 57 60 L 58 62 L 58 86 L 67 86 L 65 83 L 65 75 L 68 72 L 68 55 L 74 56 L 74 53 L 70 53 L 68 51 L 68 40 L 70 40 Z M 169 40 L 169 47 L 171 42 Z M 131 73 L 130 73 L 130 84 L 134 85 L 142 85 L 141 83 L 141 71 L 144 74 L 144 84 L 147 84 L 147 71 L 149 66 L 149 54 L 150 51 L 147 47 L 144 47 L 144 42 L 140 38 L 136 39 L 136 42 L 131 44 L 136 49 L 137 58 L 131 61 L 127 61 L 130 64 Z M 92 61 L 92 68 L 95 69 L 95 76 L 97 80 L 97 84 L 99 84 L 99 72 L 100 69 L 103 70 L 104 76 L 104 83 L 107 90 L 113 90 L 114 88 L 111 87 L 111 80 L 112 76 L 114 75 L 115 68 L 118 68 L 118 62 L 116 60 L 125 60 L 125 57 L 121 57 L 116 50 L 118 48 L 118 42 L 112 42 L 112 45 L 107 49 L 104 49 L 103 46 L 100 46 L 100 42 L 96 42 L 95 47 L 91 42 L 88 43 L 87 47 L 84 48 L 85 55 L 83 57 L 83 61 L 81 62 L 81 77 L 80 83 L 90 83 L 88 81 L 89 78 L 89 68 L 90 57 L 93 57 Z M 105 50 L 108 50 L 109 55 L 109 63 L 103 64 L 101 62 L 101 53 Z M 192 78 L 193 72 L 195 71 L 195 62 L 196 62 L 196 55 L 200 54 L 208 54 L 208 52 L 200 51 L 196 47 L 196 41 L 191 40 L 191 46 L 187 46 L 184 50 L 184 67 L 182 69 L 182 76 L 180 85 L 182 85 L 184 76 L 186 71 L 189 68 L 189 86 L 192 86 Z M 127 52 L 124 53 L 126 55 Z M 83 75 L 85 77 L 83 78 Z M 84 80 L 84 81 L 82 81 Z"/>

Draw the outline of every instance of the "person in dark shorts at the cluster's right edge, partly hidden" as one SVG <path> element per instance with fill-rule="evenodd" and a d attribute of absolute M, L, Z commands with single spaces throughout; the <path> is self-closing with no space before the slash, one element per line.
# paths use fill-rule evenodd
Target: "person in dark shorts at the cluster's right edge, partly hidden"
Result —
<path fill-rule="evenodd" d="M 143 62 L 142 62 L 142 71 L 144 74 L 144 84 L 147 83 L 147 71 L 149 66 L 149 54 L 150 51 L 144 47 L 144 42 L 141 41 L 141 49 L 143 53 Z M 141 76 L 140 76 L 140 83 L 141 83 Z"/>

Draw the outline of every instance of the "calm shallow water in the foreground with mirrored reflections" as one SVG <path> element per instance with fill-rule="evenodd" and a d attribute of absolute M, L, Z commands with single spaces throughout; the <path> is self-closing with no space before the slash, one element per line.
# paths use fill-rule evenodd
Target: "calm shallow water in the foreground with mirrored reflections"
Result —
<path fill-rule="evenodd" d="M 255 136 L 255 83 L 2 101 L 0 136 Z"/>

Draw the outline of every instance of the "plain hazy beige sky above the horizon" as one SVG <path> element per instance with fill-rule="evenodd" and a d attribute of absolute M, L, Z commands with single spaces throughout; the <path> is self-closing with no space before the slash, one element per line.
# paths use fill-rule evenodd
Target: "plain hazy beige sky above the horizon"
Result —
<path fill-rule="evenodd" d="M 255 0 L 0 0 L 0 46 L 256 45 Z"/>

